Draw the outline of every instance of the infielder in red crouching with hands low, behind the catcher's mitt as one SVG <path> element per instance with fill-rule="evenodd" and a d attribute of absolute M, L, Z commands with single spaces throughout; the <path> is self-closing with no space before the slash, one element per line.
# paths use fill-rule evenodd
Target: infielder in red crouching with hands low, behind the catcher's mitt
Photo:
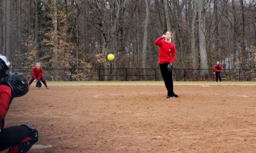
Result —
<path fill-rule="evenodd" d="M 37 62 L 36 67 L 33 67 L 32 69 L 32 76 L 28 83 L 29 86 L 31 83 L 33 83 L 35 79 L 37 79 L 37 82 L 42 81 L 44 86 L 46 86 L 46 89 L 49 89 L 49 87 L 47 86 L 46 80 L 43 79 L 43 67 L 41 67 L 40 62 Z"/>

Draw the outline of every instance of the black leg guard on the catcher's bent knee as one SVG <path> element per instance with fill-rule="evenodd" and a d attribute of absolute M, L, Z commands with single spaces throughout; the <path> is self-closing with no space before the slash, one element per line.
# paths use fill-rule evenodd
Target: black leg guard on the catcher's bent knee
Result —
<path fill-rule="evenodd" d="M 31 134 L 29 137 L 23 139 L 21 144 L 18 146 L 19 153 L 27 152 L 32 145 L 38 141 L 38 132 L 34 126 L 31 126 L 30 124 L 23 124 L 21 126 L 26 126 L 31 131 Z"/>

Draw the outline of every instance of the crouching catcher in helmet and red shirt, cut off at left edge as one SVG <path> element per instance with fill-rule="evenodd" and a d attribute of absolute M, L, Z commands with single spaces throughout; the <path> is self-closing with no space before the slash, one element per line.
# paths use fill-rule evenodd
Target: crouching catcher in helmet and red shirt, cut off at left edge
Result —
<path fill-rule="evenodd" d="M 24 79 L 26 80 L 25 77 Z M 17 84 L 15 85 L 15 83 L 20 84 L 16 86 Z M 4 127 L 5 115 L 14 96 L 22 96 L 28 92 L 26 83 L 24 80 L 12 80 L 12 77 L 10 79 L 10 62 L 5 56 L 0 55 L 0 151 L 8 148 L 8 153 L 27 152 L 38 140 L 37 130 L 29 124 Z M 22 89 L 27 90 L 22 91 Z"/>

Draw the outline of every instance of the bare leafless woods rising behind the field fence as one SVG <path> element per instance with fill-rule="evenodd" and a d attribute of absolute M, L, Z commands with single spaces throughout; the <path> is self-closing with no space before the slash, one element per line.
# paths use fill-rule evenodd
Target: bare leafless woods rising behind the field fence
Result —
<path fill-rule="evenodd" d="M 0 9 L 12 67 L 158 67 L 153 42 L 169 30 L 176 68 L 255 69 L 255 0 L 0 0 Z"/>

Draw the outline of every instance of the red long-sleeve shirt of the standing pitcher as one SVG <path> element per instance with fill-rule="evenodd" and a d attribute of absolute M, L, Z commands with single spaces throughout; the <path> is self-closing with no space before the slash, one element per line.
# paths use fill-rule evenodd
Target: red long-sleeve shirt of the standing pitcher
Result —
<path fill-rule="evenodd" d="M 158 63 L 173 63 L 175 60 L 176 50 L 175 45 L 171 42 L 165 42 L 165 39 L 159 37 L 154 42 L 155 45 L 159 46 Z"/>

